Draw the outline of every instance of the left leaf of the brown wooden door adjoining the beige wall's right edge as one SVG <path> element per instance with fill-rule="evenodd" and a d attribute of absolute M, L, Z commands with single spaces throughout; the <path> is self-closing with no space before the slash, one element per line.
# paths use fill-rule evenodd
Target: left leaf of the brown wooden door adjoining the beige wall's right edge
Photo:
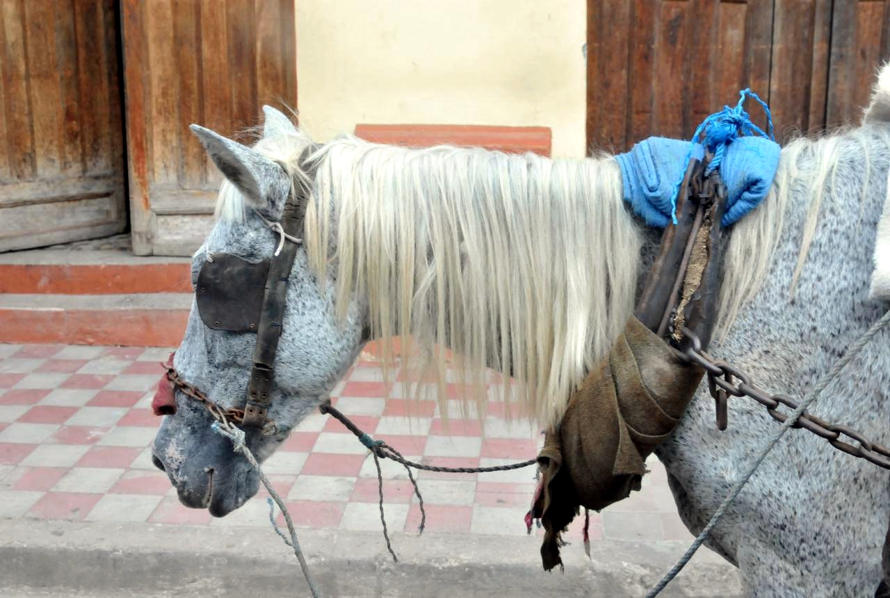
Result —
<path fill-rule="evenodd" d="M 589 0 L 588 145 L 689 138 L 739 90 L 768 96 L 773 0 Z"/>

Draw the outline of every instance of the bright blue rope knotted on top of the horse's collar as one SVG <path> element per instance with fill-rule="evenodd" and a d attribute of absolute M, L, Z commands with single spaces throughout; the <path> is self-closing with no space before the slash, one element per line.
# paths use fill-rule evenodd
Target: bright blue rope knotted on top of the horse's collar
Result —
<path fill-rule="evenodd" d="M 766 131 L 752 123 L 751 117 L 745 112 L 745 100 L 748 100 L 748 98 L 754 98 L 754 100 L 764 108 L 766 115 Z M 684 168 L 682 171 L 683 174 L 681 174 L 680 179 L 676 181 L 674 195 L 671 196 L 670 200 L 671 220 L 674 224 L 676 224 L 676 199 L 680 195 L 680 187 L 683 185 L 686 167 L 689 166 L 689 160 L 692 158 L 692 149 L 695 147 L 694 144 L 700 143 L 714 155 L 711 162 L 708 164 L 708 170 L 705 171 L 705 174 L 710 174 L 720 167 L 720 164 L 723 163 L 726 148 L 733 140 L 738 139 L 740 135 L 758 135 L 760 137 L 765 137 L 768 140 L 775 141 L 775 136 L 773 135 L 773 114 L 770 112 L 770 107 L 766 105 L 764 100 L 760 99 L 760 96 L 755 92 L 752 92 L 749 88 L 739 92 L 739 103 L 733 108 L 724 106 L 723 110 L 715 112 L 703 120 L 698 128 L 696 128 L 695 132 L 692 133 L 692 139 L 690 140 L 692 141 L 692 144 L 689 146 L 689 152 L 686 154 L 686 160 L 684 161 Z M 702 136 L 704 136 L 703 139 Z"/>

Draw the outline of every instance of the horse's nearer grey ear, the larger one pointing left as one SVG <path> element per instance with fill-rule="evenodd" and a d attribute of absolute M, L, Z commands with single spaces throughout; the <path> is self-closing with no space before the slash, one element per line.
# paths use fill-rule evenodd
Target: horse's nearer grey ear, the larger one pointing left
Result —
<path fill-rule="evenodd" d="M 216 168 L 256 211 L 266 219 L 281 218 L 290 193 L 290 178 L 279 163 L 198 124 L 189 128 L 198 136 Z"/>

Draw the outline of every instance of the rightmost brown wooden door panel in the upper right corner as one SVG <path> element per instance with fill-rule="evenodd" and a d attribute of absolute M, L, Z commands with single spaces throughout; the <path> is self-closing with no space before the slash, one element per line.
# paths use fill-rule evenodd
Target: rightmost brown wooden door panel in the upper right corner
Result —
<path fill-rule="evenodd" d="M 826 121 L 859 123 L 878 66 L 890 60 L 890 0 L 834 3 Z"/>

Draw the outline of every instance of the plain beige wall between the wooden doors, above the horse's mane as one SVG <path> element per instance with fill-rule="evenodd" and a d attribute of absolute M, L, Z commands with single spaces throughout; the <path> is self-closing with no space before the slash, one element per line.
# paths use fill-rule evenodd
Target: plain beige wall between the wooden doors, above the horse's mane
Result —
<path fill-rule="evenodd" d="M 296 0 L 300 121 L 538 125 L 585 154 L 583 0 Z"/>

